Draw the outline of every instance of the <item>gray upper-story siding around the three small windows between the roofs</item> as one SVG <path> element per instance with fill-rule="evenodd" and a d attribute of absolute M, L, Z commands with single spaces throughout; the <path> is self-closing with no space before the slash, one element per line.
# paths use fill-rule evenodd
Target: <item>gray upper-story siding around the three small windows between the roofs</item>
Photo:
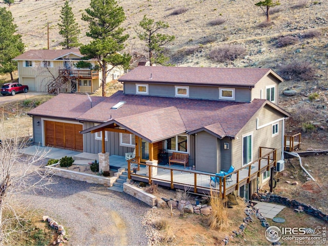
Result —
<path fill-rule="evenodd" d="M 147 83 L 136 82 L 124 82 L 124 94 L 136 95 L 136 85 L 142 85 Z M 186 85 L 165 85 L 165 84 L 147 84 L 149 96 L 163 96 L 163 97 L 175 97 L 175 86 Z M 221 88 L 221 87 L 220 87 Z M 224 87 L 232 88 L 232 87 Z M 219 87 L 218 86 L 189 86 L 190 99 L 205 99 L 205 100 L 219 100 Z M 251 101 L 251 90 L 249 88 L 235 88 L 235 100 L 234 101 Z"/>

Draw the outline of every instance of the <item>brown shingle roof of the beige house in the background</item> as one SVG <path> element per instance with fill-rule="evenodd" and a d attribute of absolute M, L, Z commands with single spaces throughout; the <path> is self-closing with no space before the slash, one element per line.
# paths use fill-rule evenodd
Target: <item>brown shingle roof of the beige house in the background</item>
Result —
<path fill-rule="evenodd" d="M 70 50 L 28 50 L 14 58 L 14 60 L 54 60 L 59 57 L 75 54 L 83 57 L 78 49 Z"/>

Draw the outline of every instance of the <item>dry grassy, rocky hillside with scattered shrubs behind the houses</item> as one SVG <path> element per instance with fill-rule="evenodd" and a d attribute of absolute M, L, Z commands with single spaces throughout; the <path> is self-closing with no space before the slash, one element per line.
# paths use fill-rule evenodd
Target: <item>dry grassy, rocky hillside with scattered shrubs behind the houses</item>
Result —
<path fill-rule="evenodd" d="M 10 7 L 27 50 L 47 48 L 48 23 L 50 49 L 61 48 L 57 23 L 64 2 L 20 0 Z M 147 54 L 134 31 L 145 14 L 167 22 L 170 28 L 165 32 L 176 36 L 167 47 L 171 63 L 176 66 L 273 68 L 285 79 L 280 85 L 281 93 L 286 89 L 295 91 L 295 96 L 282 94 L 280 99 L 284 109 L 298 114 L 293 121 L 295 131 L 304 127 L 302 124 L 306 121 L 316 123 L 315 129 L 306 131 L 325 133 L 328 127 L 328 1 L 280 0 L 281 5 L 271 9 L 270 25 L 264 22 L 265 15 L 255 6 L 256 2 L 120 0 L 118 4 L 127 16 L 123 26 L 130 34 L 126 52 Z M 70 1 L 82 30 L 80 41 L 83 43 L 88 42 L 85 35 L 88 26 L 81 20 L 81 14 L 89 3 Z M 0 7 L 5 6 L 0 3 Z M 221 48 L 228 53 L 228 58 L 221 58 L 217 51 Z"/>

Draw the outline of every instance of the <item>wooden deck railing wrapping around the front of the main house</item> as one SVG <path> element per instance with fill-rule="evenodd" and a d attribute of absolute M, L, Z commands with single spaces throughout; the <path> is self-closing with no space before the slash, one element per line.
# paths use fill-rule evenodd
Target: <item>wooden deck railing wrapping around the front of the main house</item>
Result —
<path fill-rule="evenodd" d="M 147 180 L 148 183 L 152 181 L 160 182 L 163 186 L 174 188 L 189 187 L 194 193 L 206 192 L 210 189 L 219 190 L 222 197 L 238 190 L 239 187 L 245 183 L 249 183 L 254 178 L 260 177 L 265 171 L 276 167 L 277 150 L 272 148 L 259 148 L 260 157 L 248 165 L 235 170 L 232 173 L 232 181 L 228 182 L 227 178 L 231 174 L 223 177 L 218 177 L 219 182 L 210 185 L 211 176 L 214 174 L 199 172 L 189 169 L 179 169 L 178 167 L 165 167 L 148 165 L 141 163 L 140 158 L 128 160 L 128 176 L 131 178 L 138 178 L 139 180 Z M 271 175 L 272 176 L 272 175 Z"/>

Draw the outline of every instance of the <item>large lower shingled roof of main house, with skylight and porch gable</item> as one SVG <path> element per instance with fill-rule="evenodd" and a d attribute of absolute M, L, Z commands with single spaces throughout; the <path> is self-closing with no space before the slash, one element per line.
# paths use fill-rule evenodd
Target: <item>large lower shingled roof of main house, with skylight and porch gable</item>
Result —
<path fill-rule="evenodd" d="M 264 99 L 251 103 L 196 100 L 142 95 L 125 95 L 122 91 L 110 97 L 92 96 L 92 108 L 85 95 L 59 94 L 29 112 L 56 118 L 103 122 L 81 133 L 115 123 L 149 142 L 156 142 L 183 132 L 205 130 L 219 138 L 235 137 L 250 118 L 269 105 L 281 114 L 288 113 Z M 119 101 L 125 104 L 112 107 Z"/>

